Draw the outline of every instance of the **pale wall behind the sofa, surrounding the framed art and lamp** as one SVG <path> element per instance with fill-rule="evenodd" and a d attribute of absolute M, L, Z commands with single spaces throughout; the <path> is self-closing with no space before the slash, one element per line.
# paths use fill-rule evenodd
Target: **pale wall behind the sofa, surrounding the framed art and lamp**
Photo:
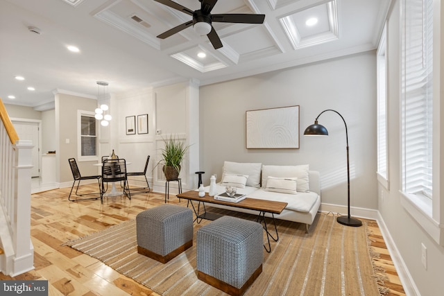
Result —
<path fill-rule="evenodd" d="M 204 183 L 223 161 L 309 164 L 321 172 L 322 202 L 347 204 L 345 125 L 334 112 L 319 123 L 329 137 L 304 137 L 326 109 L 348 125 L 351 205 L 377 209 L 375 51 L 200 87 Z M 246 149 L 246 110 L 300 105 L 300 149 Z M 352 211 L 353 214 L 353 211 Z"/>

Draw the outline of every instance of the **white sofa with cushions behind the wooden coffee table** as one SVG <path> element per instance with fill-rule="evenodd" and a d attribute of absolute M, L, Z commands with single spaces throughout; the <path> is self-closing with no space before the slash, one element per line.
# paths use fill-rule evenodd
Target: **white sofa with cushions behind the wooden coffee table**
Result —
<path fill-rule="evenodd" d="M 300 166 L 268 166 L 258 163 L 237 163 L 224 162 L 221 182 L 216 184 L 217 193 L 225 192 L 225 186 L 229 180 L 228 176 L 243 175 L 248 176 L 245 186 L 240 184 L 237 193 L 246 194 L 248 198 L 259 200 L 276 200 L 287 202 L 288 205 L 281 214 L 275 218 L 304 223 L 308 232 L 309 225 L 313 223 L 316 213 L 321 205 L 321 182 L 318 171 L 309 171 L 308 165 Z M 295 180 L 296 190 L 293 189 L 272 189 L 267 186 L 267 180 Z M 278 180 L 278 182 L 280 182 Z M 229 181 L 233 181 L 231 178 Z M 273 180 L 274 181 L 274 180 Z M 282 181 L 284 182 L 284 181 Z M 291 181 L 289 181 L 291 182 Z M 294 181 L 293 181 L 294 182 Z M 271 182 L 270 182 L 271 183 Z M 290 184 L 290 183 L 289 183 Z M 209 186 L 205 188 L 208 192 Z M 282 191 L 282 192 L 276 192 Z M 283 193 L 291 192 L 291 193 Z M 212 207 L 241 211 L 248 214 L 257 214 L 257 211 L 229 207 L 220 204 L 211 204 Z M 271 217 L 271 214 L 266 214 Z"/>

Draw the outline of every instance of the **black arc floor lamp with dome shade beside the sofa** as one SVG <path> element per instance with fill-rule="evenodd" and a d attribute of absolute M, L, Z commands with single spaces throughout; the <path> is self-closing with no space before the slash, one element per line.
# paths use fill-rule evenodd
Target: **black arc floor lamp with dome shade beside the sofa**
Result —
<path fill-rule="evenodd" d="M 338 114 L 339 116 L 341 116 L 342 121 L 344 122 L 345 125 L 345 139 L 347 140 L 347 191 L 348 191 L 348 215 L 347 216 L 339 216 L 338 218 L 336 218 L 336 221 L 338 221 L 338 223 L 341 223 L 342 225 L 347 225 L 347 226 L 361 226 L 362 222 L 361 220 L 357 219 L 357 218 L 352 218 L 350 216 L 350 162 L 348 159 L 348 130 L 347 130 L 347 123 L 345 123 L 345 119 L 343 118 L 343 116 L 332 109 L 327 109 L 324 110 L 323 112 L 321 112 L 316 119 L 314 120 L 314 124 L 309 125 L 308 128 L 305 129 L 304 135 L 305 136 L 328 136 L 328 131 L 327 128 L 325 128 L 325 126 L 318 124 L 318 118 L 319 116 L 321 116 L 321 114 L 323 114 L 324 112 L 327 111 L 332 111 L 336 114 Z"/>

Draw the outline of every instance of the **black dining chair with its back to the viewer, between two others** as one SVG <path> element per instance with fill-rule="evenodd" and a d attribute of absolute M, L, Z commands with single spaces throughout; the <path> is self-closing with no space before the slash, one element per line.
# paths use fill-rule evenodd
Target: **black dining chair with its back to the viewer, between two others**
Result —
<path fill-rule="evenodd" d="M 123 192 L 121 194 L 124 194 L 128 197 L 128 199 L 131 199 L 131 193 L 130 193 L 130 187 L 128 186 L 128 179 L 127 179 L 127 173 L 126 173 L 126 160 L 121 159 L 105 159 L 103 161 L 102 166 L 102 190 L 101 190 L 101 202 L 103 203 L 103 195 L 105 195 L 106 190 L 104 184 L 107 184 L 107 190 L 108 190 L 108 183 L 115 183 L 115 182 L 123 182 Z"/>

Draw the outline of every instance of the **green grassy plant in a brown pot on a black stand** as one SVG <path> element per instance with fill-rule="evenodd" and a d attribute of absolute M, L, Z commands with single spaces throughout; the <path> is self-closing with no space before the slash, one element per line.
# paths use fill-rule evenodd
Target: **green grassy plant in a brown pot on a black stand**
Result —
<path fill-rule="evenodd" d="M 162 148 L 162 159 L 160 159 L 160 162 L 164 164 L 162 171 L 168 181 L 178 179 L 180 165 L 188 148 L 189 146 L 185 145 L 184 141 L 176 137 L 170 136 L 164 139 L 164 148 Z"/>

